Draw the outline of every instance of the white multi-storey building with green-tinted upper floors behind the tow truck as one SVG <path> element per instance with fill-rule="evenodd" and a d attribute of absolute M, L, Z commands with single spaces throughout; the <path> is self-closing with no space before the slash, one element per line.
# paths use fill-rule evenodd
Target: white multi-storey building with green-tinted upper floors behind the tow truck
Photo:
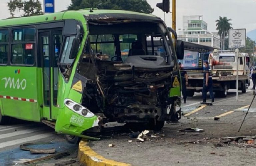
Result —
<path fill-rule="evenodd" d="M 183 28 L 178 39 L 220 49 L 220 37 L 207 30 L 203 16 L 183 16 Z"/>

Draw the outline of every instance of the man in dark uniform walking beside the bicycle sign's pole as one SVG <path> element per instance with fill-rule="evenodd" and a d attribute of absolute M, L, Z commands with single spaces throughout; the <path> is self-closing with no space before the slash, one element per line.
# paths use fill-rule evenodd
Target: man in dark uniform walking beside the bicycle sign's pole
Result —
<path fill-rule="evenodd" d="M 204 62 L 204 80 L 203 80 L 203 102 L 206 102 L 207 91 L 210 92 L 212 102 L 214 102 L 214 95 L 212 89 L 212 75 L 210 73 L 210 67 L 208 61 Z"/>

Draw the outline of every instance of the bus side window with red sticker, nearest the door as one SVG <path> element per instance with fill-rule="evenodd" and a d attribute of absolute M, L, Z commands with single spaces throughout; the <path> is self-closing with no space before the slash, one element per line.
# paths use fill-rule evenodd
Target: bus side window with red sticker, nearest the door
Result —
<path fill-rule="evenodd" d="M 12 31 L 11 64 L 33 65 L 35 61 L 35 28 Z"/>

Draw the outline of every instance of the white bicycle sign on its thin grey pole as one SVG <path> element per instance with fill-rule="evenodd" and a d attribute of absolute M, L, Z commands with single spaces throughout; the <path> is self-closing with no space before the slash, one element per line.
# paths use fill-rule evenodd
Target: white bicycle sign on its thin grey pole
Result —
<path fill-rule="evenodd" d="M 230 29 L 229 30 L 229 48 L 236 49 L 236 100 L 238 101 L 238 61 L 239 61 L 239 48 L 246 47 L 246 29 Z"/>

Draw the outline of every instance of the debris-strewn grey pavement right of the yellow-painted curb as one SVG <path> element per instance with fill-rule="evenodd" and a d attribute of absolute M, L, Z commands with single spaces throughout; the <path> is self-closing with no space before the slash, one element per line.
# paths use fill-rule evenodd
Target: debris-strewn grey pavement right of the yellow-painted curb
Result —
<path fill-rule="evenodd" d="M 144 142 L 139 142 L 136 138 L 131 138 L 129 133 L 116 133 L 111 138 L 91 141 L 89 145 L 107 159 L 134 166 L 255 165 L 256 148 L 214 146 L 221 137 L 256 135 L 256 101 L 238 132 L 252 97 L 252 90 L 248 90 L 247 93 L 239 93 L 239 101 L 236 101 L 235 90 L 230 90 L 226 98 L 216 98 L 213 106 L 199 107 L 202 96 L 201 93 L 196 93 L 187 99 L 187 104 L 182 105 L 182 110 L 184 114 L 192 110 L 198 111 L 183 116 L 179 123 L 165 124 L 159 132 L 163 135 L 160 138 L 147 138 Z M 216 116 L 220 120 L 214 120 Z M 204 132 L 178 132 L 189 127 L 198 127 Z M 184 144 L 180 141 L 198 144 Z M 115 146 L 108 147 L 109 144 Z"/>

